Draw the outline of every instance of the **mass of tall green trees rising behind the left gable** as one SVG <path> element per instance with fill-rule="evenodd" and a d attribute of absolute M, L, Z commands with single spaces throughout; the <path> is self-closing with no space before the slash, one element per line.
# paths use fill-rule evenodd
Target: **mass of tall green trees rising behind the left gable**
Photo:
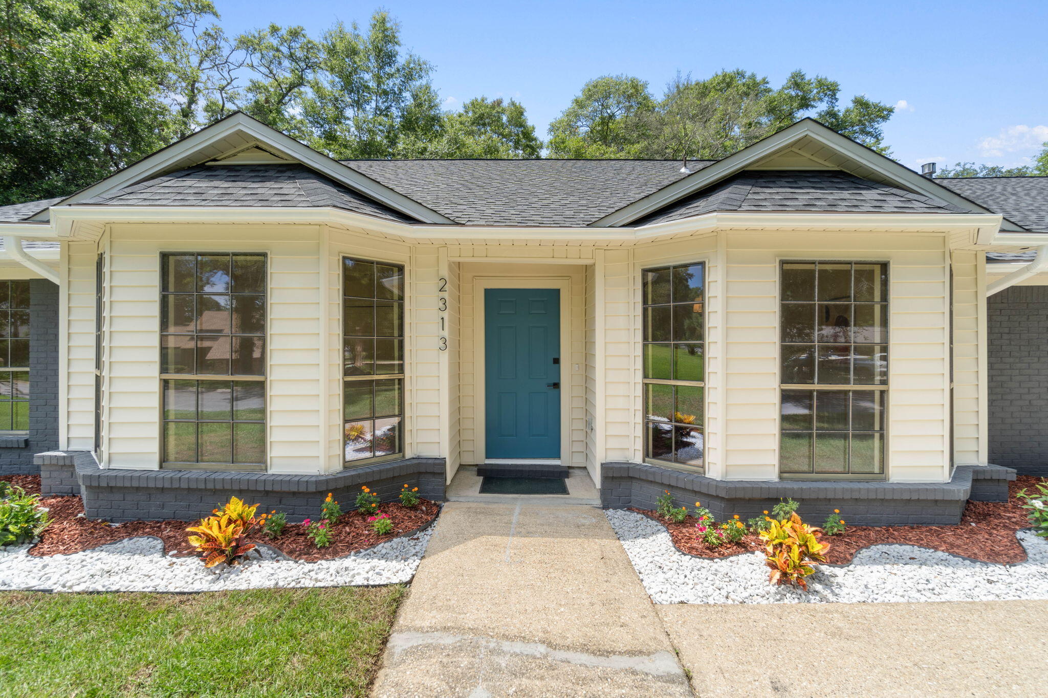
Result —
<path fill-rule="evenodd" d="M 514 100 L 445 112 L 377 12 L 230 37 L 211 0 L 0 4 L 0 204 L 63 196 L 241 110 L 339 158 L 538 157 Z"/>

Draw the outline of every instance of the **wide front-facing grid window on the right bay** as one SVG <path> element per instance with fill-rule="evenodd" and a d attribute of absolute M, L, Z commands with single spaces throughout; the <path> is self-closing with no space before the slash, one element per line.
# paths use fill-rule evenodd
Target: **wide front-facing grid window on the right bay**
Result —
<path fill-rule="evenodd" d="M 888 264 L 782 262 L 780 271 L 780 474 L 882 478 Z"/>

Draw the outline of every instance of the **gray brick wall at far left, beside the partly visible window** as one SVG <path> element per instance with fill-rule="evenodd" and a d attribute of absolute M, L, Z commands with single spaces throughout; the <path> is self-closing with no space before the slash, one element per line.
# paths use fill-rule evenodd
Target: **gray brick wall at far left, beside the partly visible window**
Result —
<path fill-rule="evenodd" d="M 32 456 L 59 445 L 59 287 L 29 282 L 29 434 L 0 438 L 0 474 L 38 473 Z"/>

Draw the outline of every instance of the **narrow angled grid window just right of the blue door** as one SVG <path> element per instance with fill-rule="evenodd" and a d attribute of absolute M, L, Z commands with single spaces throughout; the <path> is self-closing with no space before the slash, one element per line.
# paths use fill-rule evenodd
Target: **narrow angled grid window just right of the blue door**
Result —
<path fill-rule="evenodd" d="M 702 472 L 705 265 L 641 271 L 645 459 Z"/>

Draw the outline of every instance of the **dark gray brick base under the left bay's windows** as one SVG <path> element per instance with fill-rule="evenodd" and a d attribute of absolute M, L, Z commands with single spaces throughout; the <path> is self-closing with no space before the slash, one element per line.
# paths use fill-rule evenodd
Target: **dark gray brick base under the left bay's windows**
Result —
<path fill-rule="evenodd" d="M 37 456 L 45 492 L 80 494 L 89 518 L 109 521 L 181 519 L 211 514 L 231 496 L 259 502 L 265 511 L 287 514 L 289 521 L 315 518 L 328 492 L 344 510 L 353 509 L 361 486 L 383 501 L 396 498 L 405 483 L 427 499 L 444 498 L 443 458 L 407 458 L 344 470 L 329 475 L 202 472 L 196 470 L 103 470 L 87 451 Z M 77 483 L 75 492 L 59 492 Z"/>

